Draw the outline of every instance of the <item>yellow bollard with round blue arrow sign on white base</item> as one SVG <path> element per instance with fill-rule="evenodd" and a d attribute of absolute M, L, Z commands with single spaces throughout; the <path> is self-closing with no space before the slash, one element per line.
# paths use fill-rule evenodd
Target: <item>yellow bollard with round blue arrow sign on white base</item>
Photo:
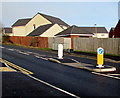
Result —
<path fill-rule="evenodd" d="M 104 49 L 103 48 L 98 48 L 97 49 L 97 66 L 99 68 L 103 68 L 103 63 L 104 63 Z"/>

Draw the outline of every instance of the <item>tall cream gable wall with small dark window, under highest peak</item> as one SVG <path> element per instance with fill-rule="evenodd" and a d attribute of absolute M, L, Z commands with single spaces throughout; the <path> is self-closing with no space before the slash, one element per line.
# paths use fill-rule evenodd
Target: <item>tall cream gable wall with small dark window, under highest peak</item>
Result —
<path fill-rule="evenodd" d="M 51 22 L 45 19 L 40 14 L 37 14 L 25 26 L 26 35 L 28 35 L 34 30 L 34 25 L 35 25 L 35 28 L 37 28 L 39 26 L 46 25 L 46 24 L 51 24 Z"/>

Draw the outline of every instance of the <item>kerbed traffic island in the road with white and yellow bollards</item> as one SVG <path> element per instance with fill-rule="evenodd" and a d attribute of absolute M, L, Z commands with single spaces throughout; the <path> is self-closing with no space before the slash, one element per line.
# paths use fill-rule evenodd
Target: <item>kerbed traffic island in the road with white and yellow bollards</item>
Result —
<path fill-rule="evenodd" d="M 116 68 L 110 65 L 104 65 L 104 49 L 99 47 L 97 49 L 97 64 L 86 64 L 81 63 L 75 59 L 63 57 L 63 45 L 58 44 L 58 57 L 48 58 L 49 61 L 61 63 L 63 65 L 68 65 L 80 69 L 85 69 L 92 72 L 113 72 Z"/>

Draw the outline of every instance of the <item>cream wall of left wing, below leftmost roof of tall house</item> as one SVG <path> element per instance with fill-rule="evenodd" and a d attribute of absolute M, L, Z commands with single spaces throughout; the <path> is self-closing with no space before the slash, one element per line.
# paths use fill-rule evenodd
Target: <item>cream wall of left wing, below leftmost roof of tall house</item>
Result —
<path fill-rule="evenodd" d="M 12 27 L 13 36 L 26 36 L 25 26 Z"/>

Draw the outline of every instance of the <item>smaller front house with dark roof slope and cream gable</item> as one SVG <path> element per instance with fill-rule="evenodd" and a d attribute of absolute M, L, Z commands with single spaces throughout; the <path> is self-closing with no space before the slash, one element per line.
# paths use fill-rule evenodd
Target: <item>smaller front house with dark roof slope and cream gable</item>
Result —
<path fill-rule="evenodd" d="M 33 30 L 27 36 L 55 37 L 56 34 L 63 30 L 64 29 L 58 24 L 47 24 L 39 26 L 37 29 Z"/>

